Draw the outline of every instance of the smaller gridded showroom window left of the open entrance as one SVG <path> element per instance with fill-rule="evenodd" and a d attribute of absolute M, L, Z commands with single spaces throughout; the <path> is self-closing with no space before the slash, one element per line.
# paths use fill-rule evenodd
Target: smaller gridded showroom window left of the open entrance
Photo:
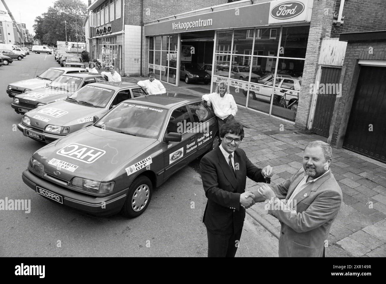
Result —
<path fill-rule="evenodd" d="M 158 80 L 176 85 L 178 35 L 149 37 L 148 70 Z"/>

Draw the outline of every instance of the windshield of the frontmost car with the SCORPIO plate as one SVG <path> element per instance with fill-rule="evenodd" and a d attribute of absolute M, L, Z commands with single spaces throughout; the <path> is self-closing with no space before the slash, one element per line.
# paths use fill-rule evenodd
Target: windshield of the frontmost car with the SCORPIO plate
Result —
<path fill-rule="evenodd" d="M 166 109 L 135 102 L 122 102 L 102 117 L 95 126 L 119 133 L 154 138 L 161 132 Z"/>

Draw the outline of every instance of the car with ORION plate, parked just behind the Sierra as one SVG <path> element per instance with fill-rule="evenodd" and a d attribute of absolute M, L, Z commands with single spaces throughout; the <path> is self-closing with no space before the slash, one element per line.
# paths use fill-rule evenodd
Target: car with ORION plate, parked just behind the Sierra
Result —
<path fill-rule="evenodd" d="M 106 79 L 89 73 L 60 75 L 44 88 L 15 96 L 11 107 L 18 114 L 25 114 L 42 105 L 64 100 L 81 87 L 95 82 L 106 82 Z"/>

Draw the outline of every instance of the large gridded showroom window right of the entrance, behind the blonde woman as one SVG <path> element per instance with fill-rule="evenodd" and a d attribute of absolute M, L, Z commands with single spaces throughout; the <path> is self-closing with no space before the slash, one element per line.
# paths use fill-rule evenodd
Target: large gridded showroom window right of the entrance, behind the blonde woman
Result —
<path fill-rule="evenodd" d="M 229 82 L 237 104 L 295 121 L 309 26 L 218 31 L 212 92 Z"/>

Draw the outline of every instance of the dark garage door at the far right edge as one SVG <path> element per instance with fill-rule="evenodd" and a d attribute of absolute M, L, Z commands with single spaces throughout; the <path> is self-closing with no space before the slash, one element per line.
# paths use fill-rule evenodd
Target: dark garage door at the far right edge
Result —
<path fill-rule="evenodd" d="M 361 66 L 343 148 L 386 162 L 386 67 Z"/>

